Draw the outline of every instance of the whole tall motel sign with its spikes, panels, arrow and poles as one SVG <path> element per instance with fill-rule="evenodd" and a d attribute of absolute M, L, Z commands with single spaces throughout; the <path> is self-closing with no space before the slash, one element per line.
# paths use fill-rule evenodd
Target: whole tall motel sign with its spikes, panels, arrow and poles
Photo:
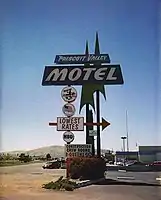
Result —
<path fill-rule="evenodd" d="M 86 41 L 86 49 L 84 55 L 56 55 L 55 63 L 61 65 L 45 66 L 42 79 L 43 86 L 68 85 L 68 87 L 64 88 L 63 92 L 61 93 L 63 100 L 67 102 L 63 106 L 62 111 L 67 116 L 68 121 L 64 121 L 64 117 L 62 121 L 60 120 L 57 121 L 57 123 L 49 123 L 49 125 L 57 125 L 58 131 L 83 131 L 84 126 L 86 126 L 86 145 L 90 144 L 93 146 L 92 155 L 95 155 L 94 136 L 89 134 L 89 130 L 93 130 L 93 126 L 97 126 L 96 133 L 98 157 L 101 156 L 100 126 L 102 126 L 102 130 L 104 130 L 107 126 L 110 125 L 110 123 L 103 118 L 102 122 L 100 122 L 100 93 L 102 93 L 106 100 L 105 85 L 124 84 L 120 64 L 109 64 L 110 62 L 111 61 L 108 54 L 100 53 L 98 32 L 96 32 L 94 54 L 89 54 L 88 42 Z M 102 65 L 103 63 L 104 65 Z M 83 65 L 64 66 L 63 64 Z M 74 99 L 77 95 L 75 88 L 69 89 L 71 85 L 82 86 L 79 113 L 81 112 L 83 106 L 86 105 L 86 122 L 84 122 L 84 118 L 83 121 L 75 121 L 76 118 L 75 120 L 72 120 L 72 116 L 75 114 L 75 107 L 71 103 L 74 102 Z M 93 97 L 95 92 L 96 108 Z M 96 122 L 93 122 L 93 113 L 92 110 L 90 110 L 90 106 L 93 108 L 94 112 L 96 111 Z M 72 140 L 72 132 L 64 133 L 63 138 L 64 141 L 69 142 Z"/>

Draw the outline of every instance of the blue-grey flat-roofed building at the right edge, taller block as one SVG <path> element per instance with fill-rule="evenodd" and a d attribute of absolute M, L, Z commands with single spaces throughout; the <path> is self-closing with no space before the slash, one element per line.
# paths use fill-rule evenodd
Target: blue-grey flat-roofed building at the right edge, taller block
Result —
<path fill-rule="evenodd" d="M 161 161 L 161 146 L 139 146 L 138 156 L 145 163 Z"/>

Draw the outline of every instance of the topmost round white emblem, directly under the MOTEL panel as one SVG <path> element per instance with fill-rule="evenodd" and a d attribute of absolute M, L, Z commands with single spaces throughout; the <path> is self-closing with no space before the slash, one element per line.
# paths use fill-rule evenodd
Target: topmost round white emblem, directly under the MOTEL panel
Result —
<path fill-rule="evenodd" d="M 71 103 L 77 98 L 77 91 L 74 87 L 67 86 L 62 89 L 61 97 L 65 102 Z"/>

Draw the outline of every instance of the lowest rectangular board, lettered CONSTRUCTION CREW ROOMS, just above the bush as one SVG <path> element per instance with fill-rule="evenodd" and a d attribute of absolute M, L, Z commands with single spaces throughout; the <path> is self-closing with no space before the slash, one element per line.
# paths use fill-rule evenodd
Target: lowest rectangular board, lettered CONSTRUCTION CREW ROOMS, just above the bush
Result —
<path fill-rule="evenodd" d="M 92 155 L 91 144 L 66 144 L 66 157 L 88 157 Z"/>

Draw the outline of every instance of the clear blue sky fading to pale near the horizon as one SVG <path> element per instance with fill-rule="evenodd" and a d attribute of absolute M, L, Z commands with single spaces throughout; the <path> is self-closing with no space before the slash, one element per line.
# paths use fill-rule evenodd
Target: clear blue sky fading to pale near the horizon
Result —
<path fill-rule="evenodd" d="M 93 53 L 96 31 L 101 53 L 121 64 L 125 81 L 106 86 L 107 101 L 101 97 L 101 115 L 111 123 L 101 133 L 102 148 L 121 149 L 126 109 L 130 149 L 160 144 L 158 7 L 159 0 L 1 1 L 1 150 L 64 144 L 63 132 L 48 126 L 63 116 L 62 87 L 41 86 L 43 70 L 56 54 L 84 53 L 86 40 Z M 84 132 L 75 137 L 85 142 Z"/>

